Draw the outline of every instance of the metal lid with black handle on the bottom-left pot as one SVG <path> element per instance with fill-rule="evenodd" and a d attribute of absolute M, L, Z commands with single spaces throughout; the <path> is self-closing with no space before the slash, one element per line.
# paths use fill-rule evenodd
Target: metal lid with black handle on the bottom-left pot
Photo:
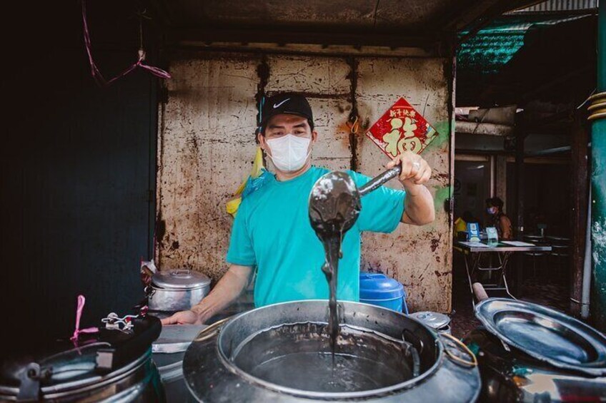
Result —
<path fill-rule="evenodd" d="M 83 389 L 110 384 L 140 368 L 152 357 L 150 345 L 161 330 L 156 317 L 136 317 L 131 330 L 99 329 L 79 341 L 41 336 L 34 345 L 1 354 L 0 401 L 71 401 Z M 6 346 L 5 346 L 6 347 Z M 13 400 L 9 398 L 9 400 Z"/>

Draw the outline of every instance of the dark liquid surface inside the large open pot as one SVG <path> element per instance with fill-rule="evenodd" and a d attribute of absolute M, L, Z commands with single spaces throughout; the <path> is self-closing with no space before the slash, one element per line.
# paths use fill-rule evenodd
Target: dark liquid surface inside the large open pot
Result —
<path fill-rule="evenodd" d="M 310 392 L 359 392 L 413 377 L 399 342 L 342 327 L 333 353 L 325 330 L 312 322 L 264 330 L 239 347 L 232 361 L 264 381 Z"/>

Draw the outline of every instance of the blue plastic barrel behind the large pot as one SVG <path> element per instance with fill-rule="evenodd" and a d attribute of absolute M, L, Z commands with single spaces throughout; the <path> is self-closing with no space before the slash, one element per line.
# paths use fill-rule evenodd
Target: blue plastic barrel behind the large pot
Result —
<path fill-rule="evenodd" d="M 360 272 L 360 302 L 408 315 L 404 285 L 382 273 Z"/>

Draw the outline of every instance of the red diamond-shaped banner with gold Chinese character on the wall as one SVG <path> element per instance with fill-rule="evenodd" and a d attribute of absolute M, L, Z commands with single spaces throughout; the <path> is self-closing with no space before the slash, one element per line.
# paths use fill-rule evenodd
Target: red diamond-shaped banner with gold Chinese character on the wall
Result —
<path fill-rule="evenodd" d="M 399 98 L 369 128 L 366 136 L 393 158 L 404 151 L 421 153 L 437 132 L 404 98 Z"/>

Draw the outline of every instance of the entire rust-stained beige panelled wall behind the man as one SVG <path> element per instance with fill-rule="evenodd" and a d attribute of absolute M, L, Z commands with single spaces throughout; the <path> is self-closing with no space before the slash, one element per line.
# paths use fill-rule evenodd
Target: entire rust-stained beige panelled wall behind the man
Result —
<path fill-rule="evenodd" d="M 261 63 L 269 67 L 267 81 L 257 73 Z M 309 98 L 319 131 L 316 165 L 346 169 L 354 164 L 367 175 L 381 172 L 388 159 L 364 131 L 349 136 L 352 108 L 367 126 L 404 96 L 439 132 L 424 152 L 434 168 L 429 188 L 436 197 L 437 220 L 424 228 L 401 225 L 391 235 L 365 234 L 362 268 L 403 282 L 413 310 L 449 312 L 452 245 L 443 209 L 452 176 L 449 61 L 191 51 L 172 56 L 170 69 L 174 78 L 167 83 L 159 125 L 161 268 L 192 267 L 214 280 L 227 270 L 232 219 L 224 204 L 249 173 L 259 86 L 268 94 L 297 91 Z"/>

